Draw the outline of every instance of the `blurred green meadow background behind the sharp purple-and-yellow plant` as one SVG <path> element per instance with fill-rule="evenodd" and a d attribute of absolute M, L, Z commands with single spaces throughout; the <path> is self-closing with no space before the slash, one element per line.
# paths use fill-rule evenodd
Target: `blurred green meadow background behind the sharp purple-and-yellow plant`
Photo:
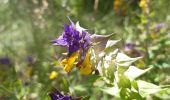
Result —
<path fill-rule="evenodd" d="M 170 1 L 148 0 L 148 7 L 141 1 L 0 0 L 0 99 L 49 100 L 53 87 L 73 96 L 90 95 L 92 100 L 111 98 L 97 88 L 83 88 L 90 76 L 75 70 L 67 75 L 60 67 L 62 49 L 51 40 L 69 23 L 67 17 L 91 34 L 115 33 L 114 38 L 121 39 L 119 49 L 132 57 L 144 56 L 136 65 L 154 67 L 143 79 L 170 84 Z M 135 46 L 127 50 L 128 44 Z M 52 71 L 55 79 L 49 78 Z M 169 95 L 170 91 L 154 100 Z"/>

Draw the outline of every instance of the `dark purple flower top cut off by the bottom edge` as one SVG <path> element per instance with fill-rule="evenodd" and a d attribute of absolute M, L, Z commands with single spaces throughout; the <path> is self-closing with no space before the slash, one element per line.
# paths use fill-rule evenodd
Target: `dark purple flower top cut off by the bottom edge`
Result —
<path fill-rule="evenodd" d="M 51 100 L 81 100 L 81 97 L 71 97 L 61 94 L 57 89 L 54 89 L 50 94 Z"/>

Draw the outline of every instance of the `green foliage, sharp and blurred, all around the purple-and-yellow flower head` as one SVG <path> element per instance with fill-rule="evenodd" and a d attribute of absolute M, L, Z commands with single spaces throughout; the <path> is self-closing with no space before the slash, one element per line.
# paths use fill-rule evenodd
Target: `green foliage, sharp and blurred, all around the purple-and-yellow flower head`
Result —
<path fill-rule="evenodd" d="M 0 99 L 50 100 L 57 88 L 83 100 L 169 100 L 170 1 L 146 0 L 145 8 L 140 1 L 1 0 L 0 58 L 11 64 L 0 62 Z M 67 16 L 102 36 L 92 40 L 92 75 L 65 73 L 66 50 L 51 45 Z M 127 43 L 135 46 L 126 50 Z"/>

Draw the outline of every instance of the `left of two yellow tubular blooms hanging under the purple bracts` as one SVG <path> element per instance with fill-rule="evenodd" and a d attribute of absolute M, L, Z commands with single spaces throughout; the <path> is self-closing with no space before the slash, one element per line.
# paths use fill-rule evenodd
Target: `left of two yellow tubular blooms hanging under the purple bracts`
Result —
<path fill-rule="evenodd" d="M 67 73 L 70 72 L 70 70 L 72 69 L 73 64 L 77 57 L 78 57 L 78 51 L 71 54 L 71 56 L 68 59 L 63 59 L 61 61 L 61 64 L 64 65 L 64 70 Z"/>

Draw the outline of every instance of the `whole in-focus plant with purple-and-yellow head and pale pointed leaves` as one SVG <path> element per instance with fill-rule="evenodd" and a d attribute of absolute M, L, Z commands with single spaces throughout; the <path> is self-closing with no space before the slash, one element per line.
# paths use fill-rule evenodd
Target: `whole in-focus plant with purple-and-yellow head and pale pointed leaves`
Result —
<path fill-rule="evenodd" d="M 121 50 L 114 49 L 120 40 L 112 40 L 113 34 L 90 34 L 79 22 L 74 24 L 70 20 L 70 23 L 64 26 L 62 35 L 52 41 L 53 45 L 62 46 L 67 50 L 66 57 L 61 60 L 65 72 L 70 73 L 75 66 L 82 75 L 97 76 L 90 83 L 94 84 L 93 87 L 125 100 L 144 100 L 148 95 L 165 91 L 160 86 L 137 80 L 152 67 L 139 69 L 134 66 L 134 62 L 142 57 L 131 58 Z M 134 46 L 127 44 L 126 49 L 133 49 Z M 104 84 L 101 85 L 100 82 Z M 57 100 L 56 96 L 50 96 L 52 100 Z"/>

